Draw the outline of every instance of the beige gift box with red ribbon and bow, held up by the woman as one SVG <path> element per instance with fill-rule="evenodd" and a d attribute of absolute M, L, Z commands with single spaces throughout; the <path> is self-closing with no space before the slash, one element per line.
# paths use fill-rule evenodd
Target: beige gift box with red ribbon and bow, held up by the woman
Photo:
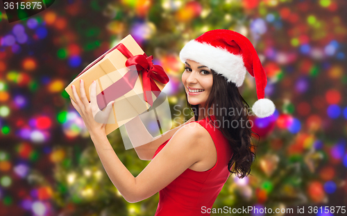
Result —
<path fill-rule="evenodd" d="M 83 79 L 85 94 L 90 101 L 90 87 L 95 80 L 96 101 L 100 110 L 104 110 L 110 101 L 115 101 L 105 126 L 105 132 L 109 134 L 148 110 L 169 82 L 164 69 L 153 65 L 152 60 L 153 57 L 146 56 L 139 44 L 128 35 L 85 67 L 65 91 L 76 102 L 71 85 L 75 85 L 80 96 L 80 80 Z M 94 119 L 98 122 L 97 116 Z"/>

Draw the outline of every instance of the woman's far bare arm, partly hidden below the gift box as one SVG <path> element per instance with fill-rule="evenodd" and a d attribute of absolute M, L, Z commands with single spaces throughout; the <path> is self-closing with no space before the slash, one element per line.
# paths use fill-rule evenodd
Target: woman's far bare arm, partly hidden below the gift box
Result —
<path fill-rule="evenodd" d="M 189 122 L 192 122 L 193 120 L 194 117 L 189 119 L 184 124 L 181 124 L 180 126 L 177 126 L 176 128 L 173 128 L 162 135 L 158 135 L 155 138 L 153 138 L 149 131 L 147 131 L 146 126 L 144 126 L 139 116 L 126 123 L 125 127 L 137 156 L 139 156 L 141 160 L 152 160 L 154 153 L 160 144 L 169 140 L 169 138 L 171 138 L 179 128 Z"/>

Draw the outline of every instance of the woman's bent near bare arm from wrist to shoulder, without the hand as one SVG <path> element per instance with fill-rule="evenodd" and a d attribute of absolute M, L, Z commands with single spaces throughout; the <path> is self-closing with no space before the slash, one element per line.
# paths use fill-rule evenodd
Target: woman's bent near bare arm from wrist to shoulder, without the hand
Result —
<path fill-rule="evenodd" d="M 105 133 L 92 133 L 91 138 L 110 180 L 129 202 L 142 201 L 162 190 L 190 166 L 202 160 L 202 152 L 213 142 L 203 126 L 196 122 L 187 124 L 178 129 L 135 178 L 121 163 Z"/>

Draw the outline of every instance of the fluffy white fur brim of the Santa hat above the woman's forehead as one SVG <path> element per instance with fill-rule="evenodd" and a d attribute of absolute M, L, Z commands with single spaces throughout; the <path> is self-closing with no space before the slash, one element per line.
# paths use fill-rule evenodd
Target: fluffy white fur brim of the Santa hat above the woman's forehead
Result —
<path fill-rule="evenodd" d="M 185 63 L 187 59 L 213 69 L 237 87 L 244 83 L 247 69 L 244 67 L 242 56 L 234 55 L 226 49 L 191 40 L 180 51 L 180 60 Z"/>

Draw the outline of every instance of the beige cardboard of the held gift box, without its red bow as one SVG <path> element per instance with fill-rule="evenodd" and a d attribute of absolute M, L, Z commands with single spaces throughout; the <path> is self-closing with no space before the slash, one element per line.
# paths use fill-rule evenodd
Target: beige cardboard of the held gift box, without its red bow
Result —
<path fill-rule="evenodd" d="M 137 44 L 131 35 L 126 36 L 119 44 L 123 44 L 133 56 L 144 55 L 144 51 L 139 47 L 139 44 Z M 151 106 L 144 100 L 142 73 L 137 73 L 135 65 L 126 67 L 126 60 L 128 60 L 128 58 L 124 56 L 117 47 L 118 44 L 85 67 L 83 72 L 78 74 L 74 81 L 65 88 L 69 96 L 76 101 L 72 94 L 71 85 L 76 86 L 76 92 L 78 96 L 80 96 L 80 80 L 83 79 L 86 88 L 85 93 L 88 101 L 90 101 L 90 86 L 95 80 L 98 106 L 99 108 L 102 107 L 101 110 L 104 110 L 110 98 L 117 97 L 115 103 L 112 105 L 112 112 L 105 126 L 105 133 L 107 135 L 115 131 L 119 126 L 126 124 L 126 122 L 129 122 L 137 115 L 144 113 L 144 111 L 148 110 Z M 164 71 L 162 72 L 164 73 Z M 166 74 L 164 74 L 164 76 L 167 77 Z M 127 80 L 124 81 L 126 77 L 130 77 L 133 83 L 129 84 Z M 165 82 L 160 83 L 160 81 L 155 79 L 153 79 L 153 81 L 160 91 L 164 88 Z M 169 81 L 169 78 L 167 78 L 167 81 Z M 87 88 L 89 90 L 87 90 Z M 124 90 L 125 88 L 128 89 Z M 122 92 L 125 94 L 122 94 Z M 154 101 L 156 96 L 153 93 L 154 92 L 151 92 Z M 155 93 L 158 95 L 158 91 Z M 121 94 L 121 96 L 119 96 L 119 94 Z M 108 99 L 108 101 L 106 101 L 106 99 Z"/>

